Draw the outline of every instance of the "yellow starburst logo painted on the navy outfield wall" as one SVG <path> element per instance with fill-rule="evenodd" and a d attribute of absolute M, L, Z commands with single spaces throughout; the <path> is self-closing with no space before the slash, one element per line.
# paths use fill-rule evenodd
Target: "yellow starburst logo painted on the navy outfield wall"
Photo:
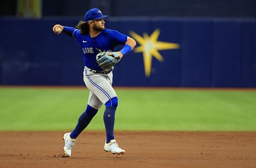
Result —
<path fill-rule="evenodd" d="M 163 57 L 158 52 L 159 50 L 179 49 L 180 45 L 171 42 L 157 41 L 160 30 L 156 29 L 149 37 L 147 33 L 143 33 L 143 37 L 130 32 L 131 36 L 140 44 L 134 49 L 135 53 L 143 53 L 145 76 L 148 78 L 151 75 L 152 58 L 155 57 L 158 61 L 163 62 Z"/>

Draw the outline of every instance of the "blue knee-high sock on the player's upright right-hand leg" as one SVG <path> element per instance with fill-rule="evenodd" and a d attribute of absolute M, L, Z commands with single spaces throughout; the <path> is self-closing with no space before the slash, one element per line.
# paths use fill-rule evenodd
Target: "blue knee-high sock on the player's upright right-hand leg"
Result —
<path fill-rule="evenodd" d="M 109 143 L 110 140 L 115 139 L 114 137 L 114 124 L 115 124 L 115 113 L 118 105 L 117 97 L 112 98 L 105 103 L 105 111 L 103 115 L 103 120 L 105 124 L 106 131 L 106 143 Z"/>

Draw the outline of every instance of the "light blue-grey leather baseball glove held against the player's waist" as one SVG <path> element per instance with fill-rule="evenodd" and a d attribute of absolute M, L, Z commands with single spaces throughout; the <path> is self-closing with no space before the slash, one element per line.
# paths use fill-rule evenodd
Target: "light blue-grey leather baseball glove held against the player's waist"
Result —
<path fill-rule="evenodd" d="M 102 52 L 96 56 L 97 63 L 104 70 L 117 64 L 120 59 L 121 57 L 116 52 Z"/>

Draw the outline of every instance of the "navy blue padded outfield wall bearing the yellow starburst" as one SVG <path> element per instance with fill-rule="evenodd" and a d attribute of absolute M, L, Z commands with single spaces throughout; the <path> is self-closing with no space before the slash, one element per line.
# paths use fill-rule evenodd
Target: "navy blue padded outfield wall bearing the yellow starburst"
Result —
<path fill-rule="evenodd" d="M 78 43 L 56 23 L 80 18 L 0 19 L 1 85 L 84 85 Z M 106 28 L 136 49 L 114 69 L 114 86 L 256 87 L 256 21 L 228 18 L 112 17 Z"/>

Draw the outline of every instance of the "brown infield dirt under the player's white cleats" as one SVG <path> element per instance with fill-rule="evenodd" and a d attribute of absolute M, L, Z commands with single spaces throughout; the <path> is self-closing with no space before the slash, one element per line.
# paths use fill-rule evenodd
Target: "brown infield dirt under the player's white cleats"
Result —
<path fill-rule="evenodd" d="M 0 167 L 256 167 L 256 132 L 116 131 L 126 153 L 113 155 L 103 131 L 84 131 L 70 158 L 63 133 L 0 132 Z"/>

